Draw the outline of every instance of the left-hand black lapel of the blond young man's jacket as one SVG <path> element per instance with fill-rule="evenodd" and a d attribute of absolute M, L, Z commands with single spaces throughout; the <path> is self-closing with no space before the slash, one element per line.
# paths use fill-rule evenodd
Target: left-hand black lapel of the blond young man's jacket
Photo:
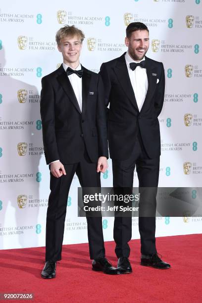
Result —
<path fill-rule="evenodd" d="M 76 99 L 74 90 L 71 86 L 69 78 L 68 78 L 67 74 L 65 73 L 62 65 L 58 68 L 58 72 L 59 72 L 59 76 L 57 77 L 57 79 L 58 79 L 60 85 L 62 86 L 62 88 L 65 91 L 69 100 L 73 103 L 73 105 L 76 107 L 78 112 L 81 113 L 81 109 L 80 109 L 79 103 Z"/>

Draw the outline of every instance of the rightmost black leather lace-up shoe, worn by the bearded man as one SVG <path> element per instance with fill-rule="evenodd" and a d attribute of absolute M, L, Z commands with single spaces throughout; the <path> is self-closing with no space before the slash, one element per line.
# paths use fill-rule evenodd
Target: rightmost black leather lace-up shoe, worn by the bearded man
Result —
<path fill-rule="evenodd" d="M 158 253 L 154 253 L 152 255 L 142 254 L 140 264 L 143 266 L 152 266 L 158 269 L 170 268 L 171 267 L 170 264 L 163 262 L 160 257 L 158 256 Z"/>

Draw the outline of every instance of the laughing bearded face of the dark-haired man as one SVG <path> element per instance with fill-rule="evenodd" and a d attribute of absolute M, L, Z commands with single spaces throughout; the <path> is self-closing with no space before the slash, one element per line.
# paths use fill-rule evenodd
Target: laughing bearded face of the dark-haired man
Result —
<path fill-rule="evenodd" d="M 134 31 L 130 38 L 125 38 L 125 44 L 128 47 L 128 52 L 130 56 L 136 60 L 142 60 L 147 53 L 150 41 L 149 33 L 147 30 Z"/>

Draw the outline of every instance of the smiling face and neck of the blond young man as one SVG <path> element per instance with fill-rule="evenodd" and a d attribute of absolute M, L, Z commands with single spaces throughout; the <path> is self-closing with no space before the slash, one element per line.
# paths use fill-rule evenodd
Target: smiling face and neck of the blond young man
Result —
<path fill-rule="evenodd" d="M 82 42 L 79 37 L 64 37 L 61 39 L 57 48 L 62 53 L 65 64 L 70 65 L 73 68 L 76 68 L 79 65 L 79 57 L 82 48 Z"/>

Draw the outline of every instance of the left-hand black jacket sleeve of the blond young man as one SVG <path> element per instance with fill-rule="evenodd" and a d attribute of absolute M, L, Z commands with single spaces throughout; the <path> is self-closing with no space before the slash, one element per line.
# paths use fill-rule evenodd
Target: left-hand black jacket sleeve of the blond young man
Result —
<path fill-rule="evenodd" d="M 59 159 L 55 137 L 54 91 L 47 77 L 42 78 L 40 112 L 46 162 Z"/>

